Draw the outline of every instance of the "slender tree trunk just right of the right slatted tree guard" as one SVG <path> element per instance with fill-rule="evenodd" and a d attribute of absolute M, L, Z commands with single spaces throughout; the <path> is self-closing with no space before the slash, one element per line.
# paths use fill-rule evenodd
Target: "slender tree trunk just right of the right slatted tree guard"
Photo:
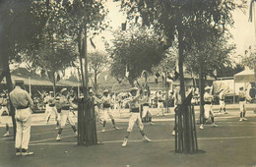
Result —
<path fill-rule="evenodd" d="M 205 110 L 204 110 L 205 80 L 202 72 L 202 67 L 200 67 L 199 69 L 199 91 L 200 91 L 200 124 L 203 124 L 205 119 Z"/>

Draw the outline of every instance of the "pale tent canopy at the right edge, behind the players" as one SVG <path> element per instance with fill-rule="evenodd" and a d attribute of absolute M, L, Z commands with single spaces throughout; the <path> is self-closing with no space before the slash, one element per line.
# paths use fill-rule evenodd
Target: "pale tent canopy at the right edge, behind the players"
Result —
<path fill-rule="evenodd" d="M 255 79 L 255 73 L 253 72 L 253 70 L 249 69 L 234 75 L 235 83 L 254 83 Z"/>

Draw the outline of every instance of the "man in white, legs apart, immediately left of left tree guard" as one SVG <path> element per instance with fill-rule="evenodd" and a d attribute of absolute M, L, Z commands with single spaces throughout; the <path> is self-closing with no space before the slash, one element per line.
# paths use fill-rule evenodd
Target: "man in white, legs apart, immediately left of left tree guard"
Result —
<path fill-rule="evenodd" d="M 61 105 L 60 128 L 59 128 L 58 136 L 57 136 L 56 140 L 61 139 L 61 133 L 62 133 L 62 130 L 64 129 L 67 121 L 71 125 L 71 128 L 74 131 L 76 137 L 78 135 L 77 128 L 76 128 L 75 123 L 72 119 L 72 115 L 70 114 L 70 107 L 74 104 L 69 99 L 68 89 L 67 88 L 62 88 L 60 90 L 60 93 L 61 93 L 60 100 L 59 100 L 59 104 Z"/>

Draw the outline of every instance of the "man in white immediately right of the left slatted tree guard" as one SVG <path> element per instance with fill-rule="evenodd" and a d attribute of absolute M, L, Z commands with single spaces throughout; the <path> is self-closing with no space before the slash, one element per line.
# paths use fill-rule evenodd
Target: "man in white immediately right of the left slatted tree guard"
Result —
<path fill-rule="evenodd" d="M 106 126 L 106 120 L 107 120 L 107 116 L 109 116 L 109 118 L 111 119 L 111 122 L 113 124 L 113 128 L 115 130 L 118 130 L 118 128 L 115 126 L 115 121 L 114 121 L 114 116 L 111 110 L 111 104 L 113 104 L 111 97 L 109 95 L 109 90 L 105 89 L 103 91 L 103 96 L 100 99 L 101 103 L 103 103 L 103 107 L 102 107 L 102 112 L 100 113 L 100 120 L 103 121 L 103 126 L 102 126 L 102 133 L 105 132 L 105 126 Z"/>

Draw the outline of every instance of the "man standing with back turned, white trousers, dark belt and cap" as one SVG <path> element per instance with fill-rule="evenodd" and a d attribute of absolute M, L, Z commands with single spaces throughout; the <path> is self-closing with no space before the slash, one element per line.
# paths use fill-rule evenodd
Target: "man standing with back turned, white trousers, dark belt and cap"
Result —
<path fill-rule="evenodd" d="M 16 155 L 32 155 L 33 152 L 28 151 L 29 142 L 31 138 L 32 125 L 32 97 L 30 94 L 22 89 L 24 87 L 23 81 L 15 81 L 15 88 L 10 92 L 10 100 L 16 109 Z M 22 152 L 21 152 L 22 151 Z"/>

